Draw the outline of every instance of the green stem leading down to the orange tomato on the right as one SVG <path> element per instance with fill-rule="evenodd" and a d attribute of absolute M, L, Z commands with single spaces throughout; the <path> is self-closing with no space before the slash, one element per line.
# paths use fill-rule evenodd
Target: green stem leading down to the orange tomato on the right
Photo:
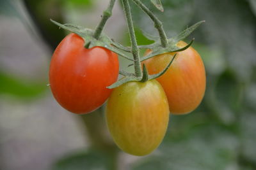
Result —
<path fill-rule="evenodd" d="M 132 0 L 132 1 L 134 1 L 134 3 L 137 4 L 137 6 L 140 7 L 141 10 L 143 10 L 145 13 L 147 13 L 148 17 L 150 17 L 151 20 L 154 22 L 155 28 L 159 32 L 161 44 L 163 47 L 166 47 L 167 46 L 167 37 L 166 37 L 166 33 L 164 32 L 162 22 L 156 17 L 156 15 L 154 15 L 154 13 L 152 13 L 152 11 L 150 11 L 147 8 L 147 6 L 145 6 L 145 4 L 141 3 L 140 0 Z"/>

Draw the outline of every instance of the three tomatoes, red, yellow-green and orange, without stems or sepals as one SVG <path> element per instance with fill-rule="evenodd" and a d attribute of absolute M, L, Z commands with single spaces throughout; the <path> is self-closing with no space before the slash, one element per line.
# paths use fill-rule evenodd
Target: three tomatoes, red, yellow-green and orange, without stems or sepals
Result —
<path fill-rule="evenodd" d="M 113 139 L 132 155 L 147 155 L 163 140 L 169 113 L 189 113 L 200 104 L 205 92 L 205 69 L 192 48 L 178 52 L 168 71 L 157 80 L 129 81 L 107 89 L 118 78 L 118 57 L 95 46 L 84 48 L 84 40 L 69 34 L 56 48 L 49 71 L 52 94 L 73 113 L 90 113 L 108 98 L 106 122 Z M 177 46 L 184 47 L 180 41 Z M 150 53 L 150 50 L 146 55 Z M 150 74 L 159 73 L 174 53 L 143 61 Z"/>

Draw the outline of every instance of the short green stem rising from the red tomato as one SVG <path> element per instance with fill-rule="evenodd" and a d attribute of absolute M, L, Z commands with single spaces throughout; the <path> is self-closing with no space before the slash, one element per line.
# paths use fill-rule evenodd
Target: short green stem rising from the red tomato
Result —
<path fill-rule="evenodd" d="M 93 34 L 93 37 L 95 39 L 99 39 L 100 38 L 100 34 L 102 33 L 102 30 L 103 30 L 103 28 L 104 28 L 108 18 L 111 17 L 111 15 L 112 15 L 112 10 L 113 10 L 113 6 L 115 4 L 115 1 L 116 0 L 111 0 L 109 2 L 107 10 L 103 11 L 103 16 L 102 16 L 102 18 L 100 20 L 100 23 L 99 23 L 99 25 L 97 25 L 97 27 L 95 29 L 95 32 Z"/>

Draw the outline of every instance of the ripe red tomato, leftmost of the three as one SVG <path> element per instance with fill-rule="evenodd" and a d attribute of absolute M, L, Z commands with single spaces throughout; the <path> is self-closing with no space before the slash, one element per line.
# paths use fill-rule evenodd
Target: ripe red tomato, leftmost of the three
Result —
<path fill-rule="evenodd" d="M 109 85 L 118 78 L 116 53 L 95 46 L 84 48 L 84 40 L 68 34 L 52 55 L 49 81 L 52 94 L 63 108 L 73 113 L 90 113 L 111 94 Z"/>

